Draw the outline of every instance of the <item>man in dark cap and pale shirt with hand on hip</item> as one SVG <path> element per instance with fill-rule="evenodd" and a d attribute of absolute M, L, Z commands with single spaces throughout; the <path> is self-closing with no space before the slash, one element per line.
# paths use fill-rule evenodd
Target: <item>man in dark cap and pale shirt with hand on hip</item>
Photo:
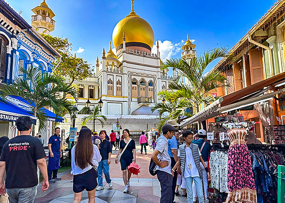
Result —
<path fill-rule="evenodd" d="M 168 139 L 173 137 L 176 128 L 169 124 L 162 126 L 162 135 L 157 139 L 157 146 L 151 159 L 157 164 L 156 170 L 160 183 L 160 203 L 172 203 L 171 158 L 168 154 Z"/>

